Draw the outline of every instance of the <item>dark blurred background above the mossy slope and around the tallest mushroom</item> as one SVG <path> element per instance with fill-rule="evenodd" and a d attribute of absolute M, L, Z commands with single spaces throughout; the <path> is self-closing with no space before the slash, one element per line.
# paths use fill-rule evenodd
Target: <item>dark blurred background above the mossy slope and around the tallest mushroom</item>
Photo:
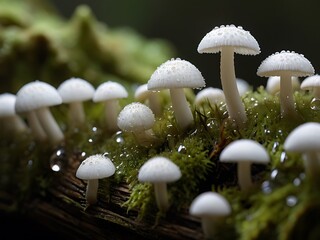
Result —
<path fill-rule="evenodd" d="M 199 54 L 197 47 L 215 26 L 242 26 L 258 41 L 261 53 L 235 56 L 236 75 L 254 86 L 266 78 L 256 70 L 270 54 L 290 50 L 305 55 L 318 71 L 320 64 L 319 0 L 51 0 L 65 17 L 87 4 L 110 27 L 132 27 L 147 38 L 173 43 L 177 56 L 196 65 L 207 85 L 220 87 L 218 54 Z"/>

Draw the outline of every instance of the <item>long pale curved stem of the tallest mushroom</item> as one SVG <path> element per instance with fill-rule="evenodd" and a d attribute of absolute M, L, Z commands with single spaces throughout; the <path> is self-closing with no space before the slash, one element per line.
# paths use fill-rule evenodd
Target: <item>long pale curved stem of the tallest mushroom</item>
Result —
<path fill-rule="evenodd" d="M 233 47 L 224 47 L 221 51 L 220 75 L 229 116 L 242 128 L 247 121 L 247 115 L 236 83 Z"/>

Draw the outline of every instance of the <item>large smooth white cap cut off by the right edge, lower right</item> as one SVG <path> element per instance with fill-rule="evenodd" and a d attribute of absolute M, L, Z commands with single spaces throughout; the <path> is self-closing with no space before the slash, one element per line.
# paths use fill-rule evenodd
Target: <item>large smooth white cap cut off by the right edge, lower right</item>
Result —
<path fill-rule="evenodd" d="M 320 123 L 307 122 L 293 129 L 284 142 L 284 149 L 288 152 L 303 153 L 319 151 Z"/>

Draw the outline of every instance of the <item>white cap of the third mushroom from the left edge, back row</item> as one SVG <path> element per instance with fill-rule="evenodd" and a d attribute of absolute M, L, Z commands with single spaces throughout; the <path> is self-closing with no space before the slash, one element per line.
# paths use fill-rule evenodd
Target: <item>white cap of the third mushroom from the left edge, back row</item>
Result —
<path fill-rule="evenodd" d="M 84 79 L 70 78 L 62 82 L 57 91 L 62 98 L 62 102 L 71 103 L 92 99 L 95 89 Z"/>

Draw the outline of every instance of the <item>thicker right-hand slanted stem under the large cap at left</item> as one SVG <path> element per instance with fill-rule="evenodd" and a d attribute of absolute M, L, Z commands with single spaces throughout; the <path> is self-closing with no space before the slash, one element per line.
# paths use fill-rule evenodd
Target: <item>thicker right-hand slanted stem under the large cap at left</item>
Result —
<path fill-rule="evenodd" d="M 47 107 L 36 110 L 37 116 L 44 131 L 48 134 L 49 139 L 53 144 L 59 143 L 64 139 L 64 135 L 53 118 L 50 110 Z"/>

